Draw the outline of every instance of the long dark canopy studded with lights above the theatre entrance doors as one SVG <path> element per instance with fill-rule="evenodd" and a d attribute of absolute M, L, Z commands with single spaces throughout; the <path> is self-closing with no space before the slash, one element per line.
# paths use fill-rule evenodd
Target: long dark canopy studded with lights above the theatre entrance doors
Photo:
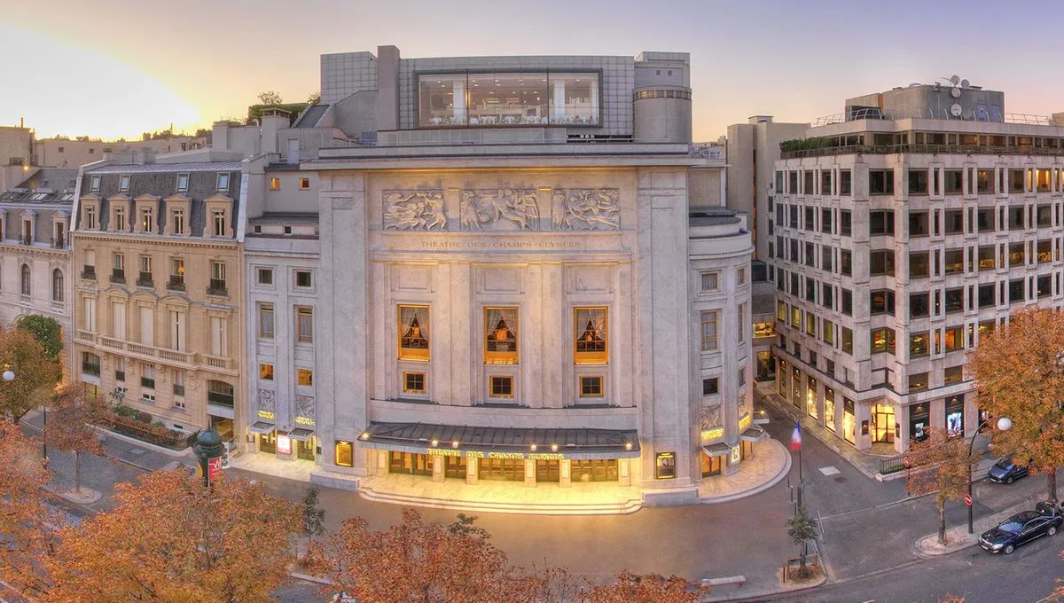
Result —
<path fill-rule="evenodd" d="M 456 445 L 455 445 L 456 442 Z M 635 430 L 472 428 L 373 421 L 359 437 L 366 448 L 426 453 L 429 449 L 530 454 L 528 458 L 637 458 Z M 533 446 L 535 447 L 533 449 Z"/>

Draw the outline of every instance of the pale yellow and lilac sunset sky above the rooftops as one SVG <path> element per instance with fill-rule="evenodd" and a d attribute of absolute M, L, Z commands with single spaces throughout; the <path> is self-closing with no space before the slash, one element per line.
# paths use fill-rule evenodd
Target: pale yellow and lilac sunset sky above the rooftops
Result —
<path fill-rule="evenodd" d="M 749 115 L 810 121 L 846 97 L 960 74 L 1007 112 L 1064 111 L 1058 1 L 376 2 L 0 0 L 0 124 L 138 138 L 318 90 L 318 55 L 692 55 L 695 139 Z"/>

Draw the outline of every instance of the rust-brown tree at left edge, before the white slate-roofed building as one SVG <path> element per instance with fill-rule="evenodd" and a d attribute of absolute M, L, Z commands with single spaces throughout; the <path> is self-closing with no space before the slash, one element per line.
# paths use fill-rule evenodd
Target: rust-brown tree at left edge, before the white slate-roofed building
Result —
<path fill-rule="evenodd" d="M 0 329 L 0 371 L 5 370 L 15 378 L 0 380 L 0 416 L 13 421 L 47 402 L 62 375 L 60 364 L 24 329 Z"/>

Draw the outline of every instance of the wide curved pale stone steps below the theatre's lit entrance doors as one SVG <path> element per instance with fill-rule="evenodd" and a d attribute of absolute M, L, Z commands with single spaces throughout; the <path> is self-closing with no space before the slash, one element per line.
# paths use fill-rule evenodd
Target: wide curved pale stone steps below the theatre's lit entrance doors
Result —
<path fill-rule="evenodd" d="M 366 500 L 419 506 L 428 508 L 446 508 L 450 510 L 473 513 L 511 513 L 519 515 L 628 515 L 643 508 L 643 501 L 630 499 L 613 503 L 512 503 L 493 501 L 442 500 L 397 495 L 372 489 L 362 484 L 359 496 Z"/>

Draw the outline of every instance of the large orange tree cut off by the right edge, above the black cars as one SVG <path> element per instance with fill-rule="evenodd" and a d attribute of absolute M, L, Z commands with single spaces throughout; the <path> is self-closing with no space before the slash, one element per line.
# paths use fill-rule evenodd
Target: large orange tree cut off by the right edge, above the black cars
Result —
<path fill-rule="evenodd" d="M 968 368 L 980 405 L 1012 421 L 1012 429 L 994 432 L 994 445 L 1032 473 L 1045 473 L 1048 498 L 1057 502 L 1057 468 L 1064 465 L 1064 316 L 1014 313 L 1008 324 L 979 336 Z"/>

